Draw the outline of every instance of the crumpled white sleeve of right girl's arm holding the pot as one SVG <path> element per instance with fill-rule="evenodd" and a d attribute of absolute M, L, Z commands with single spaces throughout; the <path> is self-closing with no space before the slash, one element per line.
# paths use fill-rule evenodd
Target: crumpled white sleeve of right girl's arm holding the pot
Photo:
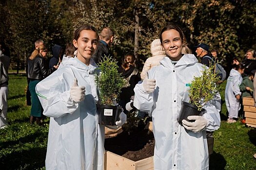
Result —
<path fill-rule="evenodd" d="M 215 98 L 212 101 L 207 102 L 204 107 L 206 113 L 203 114 L 203 117 L 207 119 L 208 124 L 206 125 L 206 131 L 215 131 L 220 126 L 220 109 L 221 109 L 221 100 L 220 95 L 217 93 Z"/>

